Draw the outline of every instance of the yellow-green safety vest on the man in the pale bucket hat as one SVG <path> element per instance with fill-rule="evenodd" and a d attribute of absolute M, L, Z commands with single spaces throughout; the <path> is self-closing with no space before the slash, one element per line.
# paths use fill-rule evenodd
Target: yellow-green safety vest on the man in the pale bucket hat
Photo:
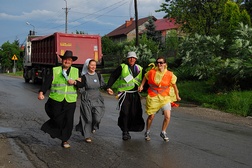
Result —
<path fill-rule="evenodd" d="M 132 80 L 130 80 L 127 83 L 124 78 L 131 74 L 130 69 L 129 69 L 128 65 L 126 65 L 126 64 L 121 64 L 121 66 L 122 66 L 122 72 L 121 72 L 121 77 L 119 78 L 118 91 L 131 90 L 135 87 L 135 84 L 137 86 L 139 86 L 142 81 L 142 69 L 143 68 L 136 64 L 135 66 L 138 69 L 139 73 L 137 74 L 137 76 L 135 78 L 133 78 Z"/>

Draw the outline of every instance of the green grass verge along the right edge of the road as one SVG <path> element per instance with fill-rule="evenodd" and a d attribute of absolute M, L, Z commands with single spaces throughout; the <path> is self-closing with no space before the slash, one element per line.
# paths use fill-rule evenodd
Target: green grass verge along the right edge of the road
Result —
<path fill-rule="evenodd" d="M 240 116 L 252 116 L 252 91 L 214 93 L 206 82 L 201 81 L 178 83 L 178 88 L 186 101 Z"/>

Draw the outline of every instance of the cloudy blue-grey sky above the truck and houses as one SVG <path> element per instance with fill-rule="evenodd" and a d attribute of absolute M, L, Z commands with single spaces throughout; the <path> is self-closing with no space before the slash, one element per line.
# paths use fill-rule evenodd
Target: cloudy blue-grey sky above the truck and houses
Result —
<path fill-rule="evenodd" d="M 138 0 L 138 18 L 155 16 L 165 0 Z M 19 40 L 24 44 L 30 30 L 36 35 L 82 31 L 104 36 L 135 17 L 134 0 L 0 0 L 0 46 Z"/>

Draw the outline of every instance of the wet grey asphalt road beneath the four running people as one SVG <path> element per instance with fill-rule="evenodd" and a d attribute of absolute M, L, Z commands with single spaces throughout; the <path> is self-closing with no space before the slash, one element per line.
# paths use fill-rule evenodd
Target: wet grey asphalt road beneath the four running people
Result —
<path fill-rule="evenodd" d="M 22 78 L 0 74 L 0 168 L 252 167 L 251 118 L 182 104 L 172 111 L 168 143 L 159 136 L 161 113 L 154 119 L 151 141 L 144 140 L 144 131 L 132 132 L 132 139 L 123 141 L 117 126 L 117 100 L 107 94 L 106 112 L 93 142 L 84 142 L 73 131 L 71 148 L 63 149 L 60 140 L 40 130 L 48 117 L 44 112 L 46 100 L 37 99 L 38 88 Z M 144 107 L 145 100 L 142 102 Z"/>

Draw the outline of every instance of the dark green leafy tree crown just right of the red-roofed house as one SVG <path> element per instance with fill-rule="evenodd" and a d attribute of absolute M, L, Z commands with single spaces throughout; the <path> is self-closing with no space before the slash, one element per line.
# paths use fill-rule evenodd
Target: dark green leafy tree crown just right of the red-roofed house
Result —
<path fill-rule="evenodd" d="M 185 33 L 214 35 L 227 0 L 165 0 L 157 12 L 165 12 L 165 18 L 174 18 L 182 24 Z"/>

